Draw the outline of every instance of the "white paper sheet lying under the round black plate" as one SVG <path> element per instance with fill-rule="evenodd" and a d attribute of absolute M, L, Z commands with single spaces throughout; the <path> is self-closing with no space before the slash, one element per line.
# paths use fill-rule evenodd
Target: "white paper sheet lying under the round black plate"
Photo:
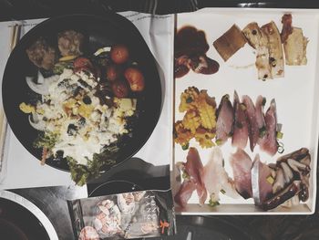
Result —
<path fill-rule="evenodd" d="M 154 165 L 170 164 L 173 90 L 171 62 L 174 18 L 173 16 L 150 16 L 134 12 L 120 14 L 126 16 L 137 26 L 141 35 L 145 38 L 156 58 L 162 83 L 163 108 L 160 120 L 149 141 L 135 156 Z M 22 30 L 24 34 L 43 20 L 26 20 L 18 24 L 22 23 L 24 25 Z M 0 76 L 3 76 L 5 63 L 7 57 L 9 57 L 10 26 L 14 24 L 15 22 L 0 23 Z M 12 80 L 14 81 L 15 79 Z M 26 151 L 15 138 L 11 130 L 8 130 L 7 139 L 7 168 L 5 179 L 0 183 L 0 189 L 74 184 L 69 172 L 58 171 L 47 165 L 41 166 L 40 162 Z"/>

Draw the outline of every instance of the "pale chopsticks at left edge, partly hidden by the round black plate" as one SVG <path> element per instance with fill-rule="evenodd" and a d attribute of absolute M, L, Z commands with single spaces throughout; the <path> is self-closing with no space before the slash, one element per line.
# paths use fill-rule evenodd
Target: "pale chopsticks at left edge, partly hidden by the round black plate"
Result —
<path fill-rule="evenodd" d="M 21 36 L 22 25 L 15 24 L 11 26 L 11 39 L 10 39 L 10 51 L 15 48 L 16 43 Z M 3 106 L 0 106 L 0 182 L 5 178 L 6 173 L 6 162 L 5 162 L 5 138 L 7 133 L 7 120 L 5 118 L 5 111 Z"/>

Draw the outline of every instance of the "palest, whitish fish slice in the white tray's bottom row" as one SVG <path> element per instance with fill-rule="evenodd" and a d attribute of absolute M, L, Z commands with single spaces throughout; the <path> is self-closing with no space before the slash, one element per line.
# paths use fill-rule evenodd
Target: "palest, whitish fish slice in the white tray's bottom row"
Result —
<path fill-rule="evenodd" d="M 210 193 L 212 202 L 220 200 L 220 192 L 232 198 L 239 197 L 234 183 L 225 171 L 222 162 L 221 149 L 215 147 L 211 151 L 209 162 L 204 167 L 204 183 L 208 193 Z"/>

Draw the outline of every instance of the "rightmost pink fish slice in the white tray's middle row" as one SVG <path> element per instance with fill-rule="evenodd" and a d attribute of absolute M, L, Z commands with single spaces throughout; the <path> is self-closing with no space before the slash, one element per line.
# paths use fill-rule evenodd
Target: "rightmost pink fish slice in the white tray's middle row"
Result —
<path fill-rule="evenodd" d="M 277 116 L 276 104 L 274 99 L 271 102 L 269 109 L 264 116 L 266 123 L 266 134 L 259 142 L 261 150 L 273 156 L 278 151 L 277 142 Z"/>

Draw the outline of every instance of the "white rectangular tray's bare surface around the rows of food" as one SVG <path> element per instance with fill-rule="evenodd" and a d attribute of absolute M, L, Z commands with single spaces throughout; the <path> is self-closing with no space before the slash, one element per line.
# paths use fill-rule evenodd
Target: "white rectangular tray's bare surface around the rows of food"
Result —
<path fill-rule="evenodd" d="M 241 31 L 252 22 L 256 22 L 259 26 L 264 26 L 273 21 L 278 29 L 281 30 L 283 26 L 281 20 L 284 14 L 291 14 L 293 16 L 293 26 L 303 29 L 304 37 L 307 37 L 308 44 L 306 47 L 306 65 L 285 65 L 283 78 L 268 79 L 266 77 L 267 79 L 258 79 L 258 69 L 255 68 L 257 50 L 253 49 L 249 44 L 243 44 L 226 61 L 213 45 L 234 24 Z M 181 78 L 175 78 L 174 81 L 174 122 L 183 120 L 185 116 L 185 112 L 180 112 L 180 95 L 190 87 L 207 91 L 210 97 L 215 98 L 216 109 L 219 108 L 221 99 L 225 95 L 228 95 L 228 99 L 232 103 L 234 91 L 237 92 L 240 99 L 246 95 L 253 102 L 261 95 L 267 100 L 264 113 L 271 105 L 272 99 L 275 101 L 277 123 L 281 123 L 282 129 L 279 131 L 283 133 L 283 135 L 280 134 L 283 137 L 280 141 L 284 147 L 282 146 L 281 153 L 275 152 L 273 156 L 262 151 L 259 147 L 256 147 L 252 151 L 249 143 L 244 146 L 243 150 L 247 152 L 252 161 L 259 154 L 260 161 L 267 166 L 272 165 L 271 163 L 277 163 L 276 161 L 281 156 L 300 150 L 301 148 L 308 149 L 311 158 L 309 165 L 310 174 L 308 175 L 309 197 L 305 202 L 300 202 L 290 207 L 278 206 L 266 212 L 258 204 L 255 204 L 252 197 L 244 199 L 240 196 L 234 199 L 224 194 L 225 191 L 223 189 L 219 193 L 220 200 L 218 203 L 210 205 L 210 194 L 208 193 L 206 202 L 200 205 L 198 194 L 196 191 L 193 191 L 188 203 L 184 207 L 177 205 L 177 212 L 180 214 L 313 214 L 316 195 L 318 149 L 318 82 L 316 79 L 318 74 L 318 11 L 309 9 L 207 8 L 195 13 L 178 14 L 176 16 L 176 23 L 177 31 L 184 26 L 195 27 L 198 31 L 203 31 L 209 46 L 205 50 L 205 55 L 211 58 L 211 60 L 216 61 L 219 66 L 216 67 L 216 63 L 211 61 L 208 62 L 208 65 L 212 66 L 211 72 L 208 72 L 207 69 L 200 69 L 200 73 L 198 73 L 199 69 L 191 68 L 191 63 L 190 69 L 181 69 L 187 73 L 182 72 L 184 75 Z M 201 40 L 198 42 L 201 43 Z M 210 74 L 208 75 L 208 73 Z M 232 137 L 225 142 L 216 142 L 215 137 L 214 140 L 213 144 L 220 146 L 203 148 L 194 138 L 183 148 L 175 142 L 174 156 L 171 164 L 171 183 L 175 194 L 179 192 L 180 184 L 185 181 L 185 178 L 189 177 L 182 175 L 177 166 L 180 167 L 180 162 L 183 162 L 181 165 L 185 167 L 190 148 L 198 150 L 204 166 L 210 160 L 212 149 L 221 149 L 224 164 L 222 168 L 233 180 L 234 172 L 230 158 L 237 151 L 237 148 L 232 146 Z M 273 180 L 275 181 L 275 178 Z M 273 183 L 272 180 L 270 182 Z M 238 189 L 236 190 L 238 192 Z"/>

